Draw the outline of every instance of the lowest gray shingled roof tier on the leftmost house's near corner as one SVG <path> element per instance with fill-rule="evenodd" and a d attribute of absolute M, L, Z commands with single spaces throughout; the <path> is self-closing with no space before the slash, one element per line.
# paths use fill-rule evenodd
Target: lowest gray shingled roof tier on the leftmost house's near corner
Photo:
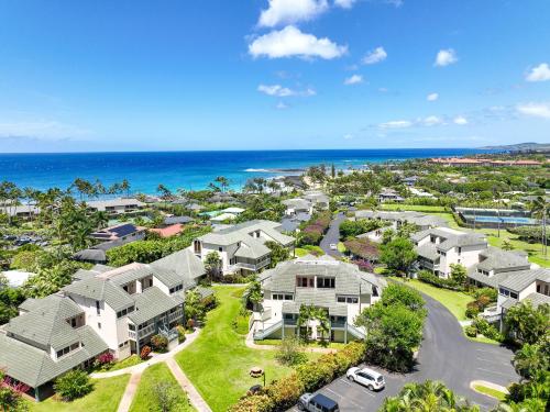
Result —
<path fill-rule="evenodd" d="M 74 331 L 84 346 L 57 360 L 53 360 L 45 350 L 0 333 L 0 367 L 10 377 L 36 388 L 109 348 L 90 326 Z"/>

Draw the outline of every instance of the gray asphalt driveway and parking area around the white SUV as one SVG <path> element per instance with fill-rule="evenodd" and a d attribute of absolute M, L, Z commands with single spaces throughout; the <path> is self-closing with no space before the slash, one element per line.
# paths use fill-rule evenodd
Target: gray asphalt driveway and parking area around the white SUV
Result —
<path fill-rule="evenodd" d="M 341 411 L 376 411 L 384 398 L 395 396 L 409 381 L 442 380 L 455 393 L 488 410 L 496 404 L 492 398 L 470 389 L 472 380 L 487 380 L 502 386 L 517 381 L 512 366 L 512 350 L 469 341 L 455 318 L 439 302 L 426 297 L 428 319 L 416 369 L 406 375 L 387 374 L 386 388 L 370 392 L 345 377 L 334 380 L 320 392 L 337 400 Z M 376 368 L 373 368 L 376 369 Z"/>

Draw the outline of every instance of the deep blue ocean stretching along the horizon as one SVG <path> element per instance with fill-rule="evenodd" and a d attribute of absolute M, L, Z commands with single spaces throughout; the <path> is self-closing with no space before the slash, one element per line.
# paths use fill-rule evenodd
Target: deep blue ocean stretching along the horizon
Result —
<path fill-rule="evenodd" d="M 409 158 L 481 153 L 468 148 L 242 151 L 242 152 L 129 152 L 0 154 L 0 180 L 20 187 L 66 188 L 75 178 L 99 179 L 105 186 L 128 179 L 133 192 L 155 193 L 158 183 L 172 190 L 204 189 L 217 176 L 240 188 L 252 177 L 296 174 L 311 165 L 359 167 Z"/>

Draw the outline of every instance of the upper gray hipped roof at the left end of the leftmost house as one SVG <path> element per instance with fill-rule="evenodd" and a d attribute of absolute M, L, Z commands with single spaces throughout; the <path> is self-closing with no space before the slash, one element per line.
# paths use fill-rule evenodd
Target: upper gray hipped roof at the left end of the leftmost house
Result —
<path fill-rule="evenodd" d="M 69 298 L 51 294 L 23 303 L 21 308 L 29 312 L 11 319 L 6 326 L 8 333 L 56 349 L 78 342 L 78 334 L 66 320 L 84 311 Z"/>

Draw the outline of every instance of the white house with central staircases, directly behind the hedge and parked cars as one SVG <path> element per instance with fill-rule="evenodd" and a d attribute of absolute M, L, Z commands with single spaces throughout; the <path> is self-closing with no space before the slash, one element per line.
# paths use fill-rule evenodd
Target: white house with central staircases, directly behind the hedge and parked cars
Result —
<path fill-rule="evenodd" d="M 304 256 L 279 263 L 260 276 L 263 300 L 254 308 L 254 338 L 304 336 L 311 339 L 349 342 L 364 338 L 365 331 L 354 326 L 354 319 L 373 304 L 386 286 L 385 280 L 359 270 L 356 265 L 324 255 Z M 299 324 L 300 307 L 324 310 L 329 330 L 316 319 Z"/>

